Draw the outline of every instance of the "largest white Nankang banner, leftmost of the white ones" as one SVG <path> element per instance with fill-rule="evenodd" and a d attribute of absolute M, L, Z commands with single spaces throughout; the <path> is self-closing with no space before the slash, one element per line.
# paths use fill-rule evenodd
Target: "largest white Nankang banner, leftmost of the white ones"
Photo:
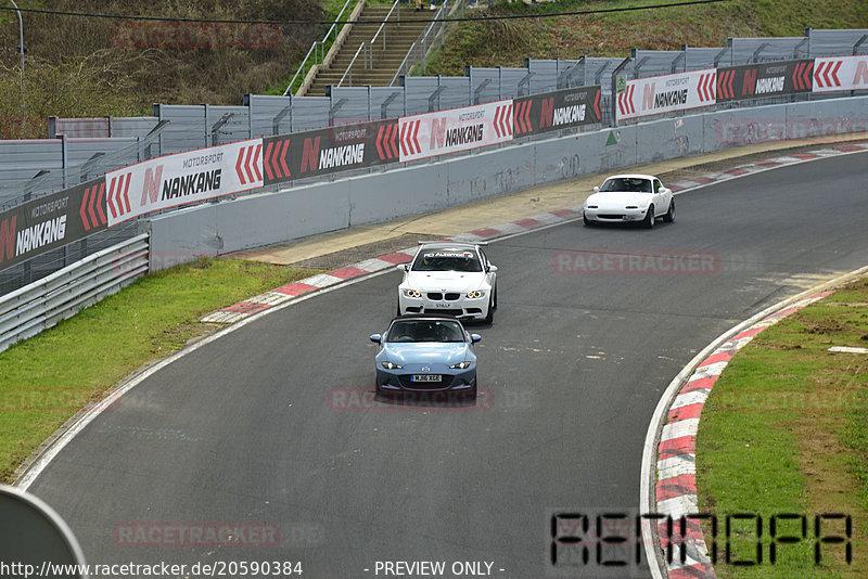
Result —
<path fill-rule="evenodd" d="M 105 173 L 108 227 L 263 186 L 263 140 L 166 155 Z"/>

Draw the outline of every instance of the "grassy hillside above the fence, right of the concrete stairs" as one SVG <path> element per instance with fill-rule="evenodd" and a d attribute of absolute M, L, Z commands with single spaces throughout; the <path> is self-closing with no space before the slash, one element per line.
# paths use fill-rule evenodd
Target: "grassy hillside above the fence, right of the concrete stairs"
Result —
<path fill-rule="evenodd" d="M 485 3 L 484 1 L 481 3 Z M 656 0 L 560 0 L 535 7 L 495 4 L 492 13 L 532 14 L 650 7 Z M 805 27 L 866 28 L 861 0 L 728 0 L 689 5 L 535 20 L 486 20 L 489 11 L 465 11 L 478 22 L 454 27 L 446 48 L 427 65 L 427 74 L 463 76 L 464 66 L 523 66 L 531 59 L 629 56 L 629 50 L 680 50 L 725 47 L 730 37 L 796 36 Z"/>

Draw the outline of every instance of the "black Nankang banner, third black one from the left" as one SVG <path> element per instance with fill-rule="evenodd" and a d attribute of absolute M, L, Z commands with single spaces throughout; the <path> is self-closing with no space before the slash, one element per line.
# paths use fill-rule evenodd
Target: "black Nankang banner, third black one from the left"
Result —
<path fill-rule="evenodd" d="M 515 99 L 515 137 L 600 123 L 600 87 L 556 90 Z"/>

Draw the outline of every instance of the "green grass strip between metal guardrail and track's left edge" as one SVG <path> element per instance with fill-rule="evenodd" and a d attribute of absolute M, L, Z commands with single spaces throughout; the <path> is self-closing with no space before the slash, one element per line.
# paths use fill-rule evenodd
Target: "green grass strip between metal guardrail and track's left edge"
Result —
<path fill-rule="evenodd" d="M 315 273 L 201 259 L 141 278 L 0 353 L 0 480 L 124 376 L 213 330 L 203 314 Z"/>

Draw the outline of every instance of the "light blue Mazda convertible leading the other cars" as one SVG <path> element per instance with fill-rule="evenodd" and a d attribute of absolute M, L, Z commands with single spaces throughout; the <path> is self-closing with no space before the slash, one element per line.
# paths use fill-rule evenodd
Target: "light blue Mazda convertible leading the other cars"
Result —
<path fill-rule="evenodd" d="M 476 397 L 478 334 L 469 334 L 450 316 L 399 316 L 385 334 L 373 334 L 380 344 L 375 358 L 376 394 L 433 393 Z"/>

